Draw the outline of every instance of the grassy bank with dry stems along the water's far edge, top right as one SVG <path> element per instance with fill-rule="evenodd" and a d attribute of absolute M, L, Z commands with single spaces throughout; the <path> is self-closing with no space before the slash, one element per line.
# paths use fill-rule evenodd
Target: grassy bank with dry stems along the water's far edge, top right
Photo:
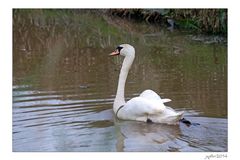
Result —
<path fill-rule="evenodd" d="M 227 35 L 227 9 L 109 9 L 107 12 L 162 27 Z"/>

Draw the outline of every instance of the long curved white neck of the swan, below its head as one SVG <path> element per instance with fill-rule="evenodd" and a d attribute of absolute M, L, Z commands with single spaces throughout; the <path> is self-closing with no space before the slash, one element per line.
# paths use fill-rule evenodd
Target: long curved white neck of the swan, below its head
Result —
<path fill-rule="evenodd" d="M 119 79 L 118 79 L 117 94 L 113 104 L 113 110 L 115 113 L 117 112 L 119 107 L 121 107 L 126 103 L 124 98 L 124 88 L 127 80 L 128 71 L 131 68 L 133 60 L 134 60 L 134 55 L 126 56 L 124 58 Z"/>

